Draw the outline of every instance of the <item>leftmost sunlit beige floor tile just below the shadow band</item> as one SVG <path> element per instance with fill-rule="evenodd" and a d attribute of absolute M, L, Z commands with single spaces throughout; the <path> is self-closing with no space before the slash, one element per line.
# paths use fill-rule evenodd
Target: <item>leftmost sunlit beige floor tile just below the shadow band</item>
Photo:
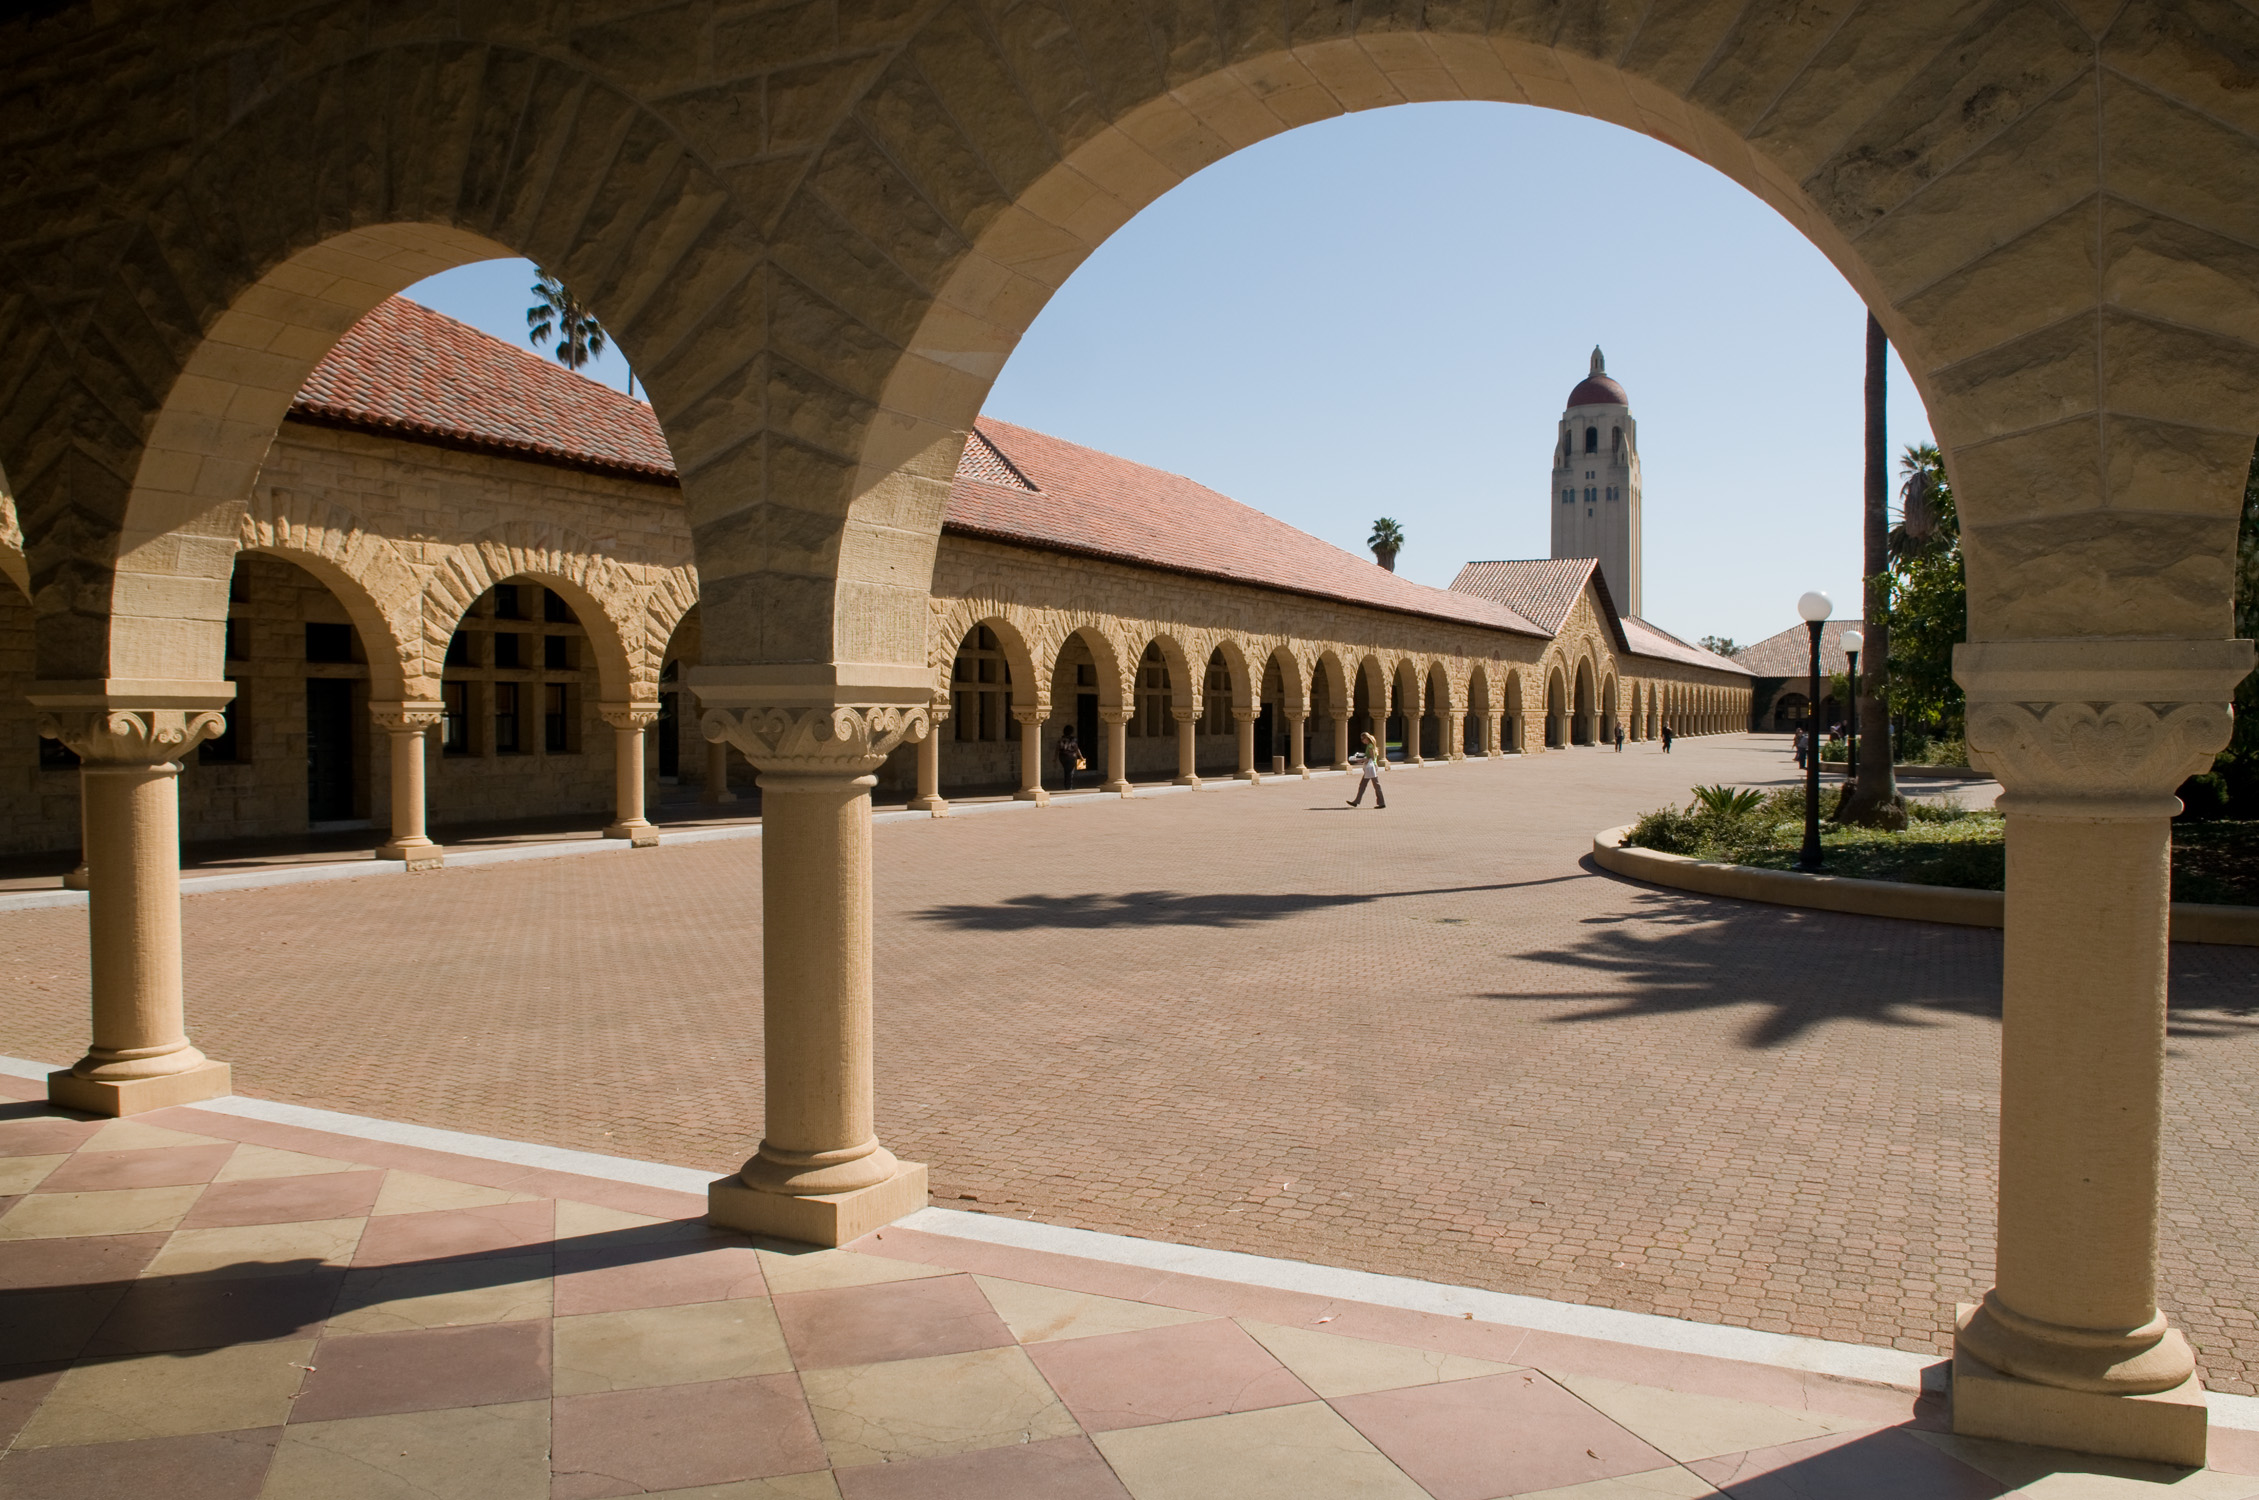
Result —
<path fill-rule="evenodd" d="M 278 1428 L 312 1364 L 314 1340 L 235 1344 L 201 1353 L 88 1360 L 63 1371 L 18 1448 L 120 1444 L 140 1437 Z"/>

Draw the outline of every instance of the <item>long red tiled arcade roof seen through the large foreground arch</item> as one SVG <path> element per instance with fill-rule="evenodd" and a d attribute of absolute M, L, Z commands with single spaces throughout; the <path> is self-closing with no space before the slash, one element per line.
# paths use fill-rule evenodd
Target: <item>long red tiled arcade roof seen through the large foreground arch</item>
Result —
<path fill-rule="evenodd" d="M 965 454 L 942 531 L 1552 635 L 1507 603 L 1398 578 L 1184 474 L 994 418 L 976 422 Z"/>

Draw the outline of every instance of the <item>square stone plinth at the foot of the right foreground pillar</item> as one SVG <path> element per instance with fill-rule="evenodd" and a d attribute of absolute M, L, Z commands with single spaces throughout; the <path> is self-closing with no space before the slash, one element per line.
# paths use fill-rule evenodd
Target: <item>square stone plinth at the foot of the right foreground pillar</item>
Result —
<path fill-rule="evenodd" d="M 1961 1306 L 1965 1324 L 1974 1303 Z M 2205 1466 L 2205 1385 L 2189 1376 L 2151 1396 L 2067 1392 L 2006 1376 L 1954 1349 L 1954 1432 L 2040 1448 L 2105 1453 L 2151 1464 Z"/>

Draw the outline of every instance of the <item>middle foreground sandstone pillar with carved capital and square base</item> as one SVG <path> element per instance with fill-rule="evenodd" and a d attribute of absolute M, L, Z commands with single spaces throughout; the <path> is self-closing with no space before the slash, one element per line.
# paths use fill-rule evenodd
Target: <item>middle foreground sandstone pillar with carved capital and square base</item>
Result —
<path fill-rule="evenodd" d="M 926 1168 L 897 1161 L 874 1130 L 870 788 L 895 745 L 931 734 L 931 716 L 924 703 L 732 705 L 709 707 L 700 732 L 759 770 L 766 1048 L 761 1148 L 707 1188 L 707 1218 L 845 1245 L 926 1206 Z"/>

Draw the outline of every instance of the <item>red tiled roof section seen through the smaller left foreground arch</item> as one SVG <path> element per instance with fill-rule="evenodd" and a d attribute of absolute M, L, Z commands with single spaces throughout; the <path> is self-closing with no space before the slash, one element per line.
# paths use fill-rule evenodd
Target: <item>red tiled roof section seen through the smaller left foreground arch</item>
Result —
<path fill-rule="evenodd" d="M 673 479 L 651 407 L 395 296 L 314 366 L 291 416 L 574 468 Z"/>

